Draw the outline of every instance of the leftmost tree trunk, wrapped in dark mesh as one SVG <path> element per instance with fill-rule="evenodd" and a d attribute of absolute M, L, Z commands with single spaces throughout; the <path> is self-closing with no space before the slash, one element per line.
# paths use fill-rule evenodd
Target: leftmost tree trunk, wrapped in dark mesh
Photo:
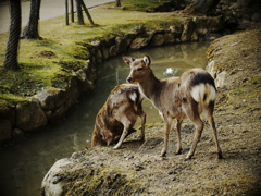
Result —
<path fill-rule="evenodd" d="M 18 69 L 18 45 L 21 34 L 21 2 L 20 0 L 10 0 L 10 29 L 7 44 L 7 51 L 3 65 L 9 70 Z"/>

